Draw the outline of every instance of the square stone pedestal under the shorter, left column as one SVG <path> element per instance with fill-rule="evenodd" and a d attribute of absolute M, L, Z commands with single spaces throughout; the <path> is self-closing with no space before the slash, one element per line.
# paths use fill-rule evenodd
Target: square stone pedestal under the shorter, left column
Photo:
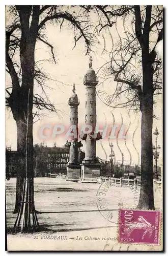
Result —
<path fill-rule="evenodd" d="M 81 180 L 81 166 L 79 164 L 68 163 L 66 180 L 74 182 Z"/>

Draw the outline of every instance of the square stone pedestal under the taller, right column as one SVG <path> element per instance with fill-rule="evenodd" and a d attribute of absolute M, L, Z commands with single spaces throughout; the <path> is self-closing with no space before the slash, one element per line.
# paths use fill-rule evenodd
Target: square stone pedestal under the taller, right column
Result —
<path fill-rule="evenodd" d="M 82 183 L 97 183 L 97 178 L 100 177 L 100 164 L 90 163 L 83 160 L 81 164 L 81 182 Z"/>

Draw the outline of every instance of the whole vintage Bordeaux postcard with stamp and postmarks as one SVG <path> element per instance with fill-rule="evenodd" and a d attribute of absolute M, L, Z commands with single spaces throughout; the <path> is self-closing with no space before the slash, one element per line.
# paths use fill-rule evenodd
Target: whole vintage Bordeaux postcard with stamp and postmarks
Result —
<path fill-rule="evenodd" d="M 163 250 L 163 7 L 6 6 L 8 251 Z"/>

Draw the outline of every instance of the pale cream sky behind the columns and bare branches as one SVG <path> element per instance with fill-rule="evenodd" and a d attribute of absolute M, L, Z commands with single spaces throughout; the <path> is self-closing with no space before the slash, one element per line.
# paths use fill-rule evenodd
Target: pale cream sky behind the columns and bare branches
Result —
<path fill-rule="evenodd" d="M 129 19 L 127 20 L 126 27 L 131 30 L 131 24 L 129 23 Z M 111 46 L 115 45 L 115 42 L 120 39 L 120 36 L 124 34 L 124 25 L 123 21 L 119 22 L 118 25 L 114 26 L 110 30 L 110 34 L 108 31 L 104 32 L 104 38 L 106 43 L 106 49 L 108 51 L 111 50 Z M 112 41 L 111 41 L 112 35 Z M 76 47 L 74 47 L 74 34 L 70 28 L 66 25 L 63 26 L 61 32 L 60 27 L 57 25 L 52 26 L 48 24 L 46 26 L 46 36 L 48 41 L 54 47 L 55 59 L 57 60 L 57 64 L 44 61 L 40 62 L 41 67 L 45 70 L 45 72 L 53 79 L 48 81 L 48 86 L 52 88 L 52 90 L 45 88 L 45 91 L 51 100 L 54 103 L 55 108 L 60 110 L 59 116 L 56 113 L 48 113 L 45 111 L 45 115 L 37 122 L 35 122 L 33 127 L 34 133 L 34 143 L 40 143 L 44 140 L 39 138 L 39 129 L 44 124 L 57 124 L 63 123 L 65 125 L 69 124 L 69 106 L 68 99 L 72 94 L 72 84 L 75 83 L 76 93 L 80 100 L 80 104 L 78 106 L 78 121 L 80 124 L 85 123 L 85 93 L 86 89 L 83 85 L 83 76 L 87 72 L 89 68 L 89 56 L 85 55 L 86 48 L 83 44 L 83 40 L 79 40 Z M 101 71 L 100 67 L 102 67 L 106 62 L 109 61 L 109 56 L 107 52 L 103 52 L 104 47 L 104 39 L 101 36 L 100 44 L 93 47 L 94 53 L 92 53 L 93 58 L 93 69 L 99 77 L 99 84 L 101 81 Z M 72 50 L 73 49 L 73 50 Z M 42 42 L 38 42 L 36 45 L 36 53 L 35 58 L 37 60 L 48 59 L 51 58 L 52 55 L 50 53 L 50 49 L 44 45 Z M 138 72 L 138 71 L 136 71 Z M 6 77 L 6 85 L 9 87 L 11 81 L 10 77 L 7 75 Z M 97 92 L 99 84 L 97 86 Z M 110 95 L 110 88 L 115 88 L 116 82 L 113 79 L 110 79 L 110 82 L 106 82 L 104 85 L 105 90 L 108 95 Z M 112 91 L 111 91 L 112 92 Z M 35 86 L 35 93 L 42 94 L 41 89 Z M 45 97 L 45 96 L 44 96 Z M 113 124 L 113 115 L 115 116 L 115 123 L 121 124 L 121 115 L 123 118 L 123 124 L 126 129 L 130 124 L 130 129 L 127 133 L 126 145 L 124 139 L 118 140 L 118 145 L 120 146 L 121 151 L 124 153 L 124 161 L 125 163 L 130 163 L 130 154 L 131 154 L 131 164 L 138 164 L 141 160 L 141 114 L 135 114 L 133 111 L 130 111 L 130 119 L 128 115 L 128 111 L 125 109 L 114 109 L 110 106 L 107 106 L 103 103 L 103 98 L 99 98 L 96 96 L 97 102 L 97 123 L 98 124 Z M 155 97 L 156 104 L 154 105 L 154 115 L 157 116 L 157 119 L 153 120 L 153 129 L 157 126 L 158 131 L 160 133 L 158 137 L 158 144 L 162 145 L 162 95 Z M 111 114 L 113 112 L 113 115 Z M 137 129 L 136 129 L 137 128 Z M 136 132 L 134 134 L 134 131 Z M 134 138 L 133 137 L 134 134 Z M 132 141 L 133 140 L 133 141 Z M 66 138 L 63 136 L 56 137 L 53 140 L 45 141 L 48 146 L 52 146 L 53 142 L 57 143 L 57 146 L 62 146 L 66 141 Z M 116 154 L 116 160 L 121 161 L 121 152 L 118 148 L 116 139 L 112 140 L 114 144 L 114 151 Z M 139 152 L 139 157 L 135 151 L 136 147 Z M 12 150 L 17 150 L 17 132 L 16 132 L 16 123 L 13 120 L 13 116 L 9 110 L 6 111 L 6 144 L 7 146 L 11 146 Z M 129 148 L 129 151 L 127 150 Z M 85 142 L 83 141 L 83 150 L 85 150 Z M 97 149 L 96 154 L 102 159 L 109 158 L 110 148 L 108 145 L 108 140 L 97 141 Z M 159 164 L 162 165 L 162 152 L 160 152 Z"/>

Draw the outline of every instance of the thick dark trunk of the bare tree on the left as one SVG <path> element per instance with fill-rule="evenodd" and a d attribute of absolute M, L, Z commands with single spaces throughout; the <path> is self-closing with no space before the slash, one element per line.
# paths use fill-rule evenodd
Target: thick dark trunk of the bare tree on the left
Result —
<path fill-rule="evenodd" d="M 21 201 L 23 180 L 25 178 L 25 142 L 26 129 L 28 129 L 28 152 L 27 152 L 27 177 L 30 177 L 31 197 L 34 197 L 34 147 L 33 147 L 33 87 L 35 68 L 35 44 L 38 33 L 39 6 L 33 7 L 32 22 L 30 26 L 30 15 L 32 6 L 16 6 L 21 24 L 20 39 L 20 63 L 22 69 L 22 86 L 17 93 L 17 108 L 13 109 L 14 119 L 17 123 L 18 154 L 20 168 L 17 172 L 16 203 L 14 212 L 18 212 Z M 29 95 L 29 110 L 27 110 L 27 97 Z M 14 96 L 14 95 L 13 95 Z M 12 109 L 12 108 L 11 108 Z M 27 111 L 29 112 L 29 127 L 26 127 Z M 16 115 L 15 115 L 16 114 Z M 32 198 L 34 201 L 34 198 Z"/>

